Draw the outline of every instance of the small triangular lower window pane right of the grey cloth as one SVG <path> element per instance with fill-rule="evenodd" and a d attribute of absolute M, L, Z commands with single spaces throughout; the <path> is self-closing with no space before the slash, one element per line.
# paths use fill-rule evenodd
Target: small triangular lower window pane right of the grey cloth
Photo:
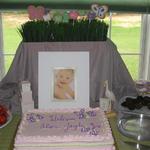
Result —
<path fill-rule="evenodd" d="M 139 55 L 121 55 L 123 61 L 125 62 L 128 71 L 130 72 L 134 80 L 138 79 L 139 73 Z"/>

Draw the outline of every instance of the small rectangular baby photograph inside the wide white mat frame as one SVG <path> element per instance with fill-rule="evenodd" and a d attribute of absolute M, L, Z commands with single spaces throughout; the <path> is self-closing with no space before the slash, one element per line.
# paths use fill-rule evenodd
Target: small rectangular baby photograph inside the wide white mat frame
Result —
<path fill-rule="evenodd" d="M 72 68 L 54 69 L 54 100 L 75 99 L 75 70 Z"/>

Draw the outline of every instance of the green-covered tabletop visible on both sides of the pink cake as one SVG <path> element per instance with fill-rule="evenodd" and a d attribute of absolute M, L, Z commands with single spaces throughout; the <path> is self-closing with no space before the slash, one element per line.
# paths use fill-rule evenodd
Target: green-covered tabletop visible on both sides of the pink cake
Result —
<path fill-rule="evenodd" d="M 13 150 L 13 142 L 17 130 L 17 126 L 20 122 L 20 116 L 14 115 L 13 120 L 3 129 L 0 129 L 0 150 Z M 115 145 L 117 150 L 134 150 L 133 145 L 124 143 L 124 141 L 136 142 L 128 137 L 123 136 L 117 129 L 116 116 L 109 117 L 110 126 L 115 139 Z M 147 146 L 150 146 L 150 142 L 142 142 Z M 144 149 L 145 150 L 145 149 Z"/>

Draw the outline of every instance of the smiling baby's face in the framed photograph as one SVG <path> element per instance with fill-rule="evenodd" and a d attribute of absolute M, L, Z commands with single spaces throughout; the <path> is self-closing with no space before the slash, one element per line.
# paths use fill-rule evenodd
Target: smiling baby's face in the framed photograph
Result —
<path fill-rule="evenodd" d="M 69 84 L 73 80 L 73 73 L 68 70 L 60 70 L 57 75 L 57 82 L 61 84 Z"/>

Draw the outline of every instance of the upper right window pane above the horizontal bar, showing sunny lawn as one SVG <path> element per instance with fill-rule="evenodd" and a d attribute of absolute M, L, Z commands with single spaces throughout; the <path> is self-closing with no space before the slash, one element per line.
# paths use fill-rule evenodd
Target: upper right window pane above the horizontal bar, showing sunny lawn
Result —
<path fill-rule="evenodd" d="M 112 40 L 120 53 L 140 52 L 141 14 L 112 15 Z"/>

